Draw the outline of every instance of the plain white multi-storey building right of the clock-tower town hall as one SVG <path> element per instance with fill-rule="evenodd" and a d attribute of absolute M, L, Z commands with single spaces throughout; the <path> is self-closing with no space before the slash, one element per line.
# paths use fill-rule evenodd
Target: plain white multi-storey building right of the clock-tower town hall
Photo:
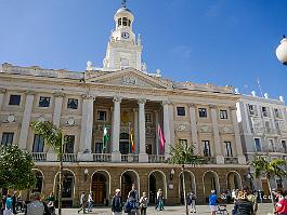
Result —
<path fill-rule="evenodd" d="M 271 99 L 266 93 L 264 97 L 257 96 L 255 91 L 251 95 L 243 95 L 237 103 L 237 117 L 247 161 L 256 156 L 286 159 L 287 111 L 282 96 Z M 250 173 L 252 176 L 253 170 Z M 266 178 L 250 179 L 255 189 L 269 192 Z M 273 189 L 286 186 L 286 178 L 272 180 Z"/>

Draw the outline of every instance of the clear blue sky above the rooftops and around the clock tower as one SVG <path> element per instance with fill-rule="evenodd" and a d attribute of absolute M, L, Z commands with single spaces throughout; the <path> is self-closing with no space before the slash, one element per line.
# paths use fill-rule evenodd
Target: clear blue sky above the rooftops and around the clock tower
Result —
<path fill-rule="evenodd" d="M 0 62 L 82 71 L 102 66 L 120 0 L 0 0 Z M 128 0 L 143 61 L 177 81 L 233 85 L 287 99 L 275 56 L 287 0 Z"/>

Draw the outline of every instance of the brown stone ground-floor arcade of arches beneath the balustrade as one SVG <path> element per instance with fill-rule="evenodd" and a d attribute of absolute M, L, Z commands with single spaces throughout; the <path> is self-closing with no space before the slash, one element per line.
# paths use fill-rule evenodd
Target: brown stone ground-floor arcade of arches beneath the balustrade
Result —
<path fill-rule="evenodd" d="M 51 191 L 56 193 L 58 187 L 58 167 L 54 165 L 37 165 L 36 190 L 43 194 Z M 198 203 L 205 203 L 210 190 L 218 193 L 226 189 L 240 189 L 248 185 L 246 174 L 247 166 L 200 166 L 186 167 L 186 190 L 194 190 L 198 197 Z M 155 203 L 156 192 L 160 188 L 167 204 L 174 205 L 181 202 L 182 174 L 179 166 L 168 164 L 132 165 L 109 164 L 89 165 L 70 164 L 64 167 L 63 203 L 75 206 L 79 203 L 82 191 L 93 191 L 94 203 L 97 206 L 108 205 L 115 189 L 119 188 L 123 200 L 134 183 L 140 193 L 146 191 L 151 203 Z"/>

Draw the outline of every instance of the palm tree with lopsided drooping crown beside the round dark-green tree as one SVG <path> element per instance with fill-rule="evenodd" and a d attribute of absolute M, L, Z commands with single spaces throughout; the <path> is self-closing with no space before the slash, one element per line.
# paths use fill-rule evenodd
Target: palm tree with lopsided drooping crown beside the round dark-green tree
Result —
<path fill-rule="evenodd" d="M 58 215 L 62 214 L 62 189 L 63 189 L 63 145 L 65 143 L 61 127 L 57 127 L 49 121 L 34 121 L 31 127 L 35 134 L 43 137 L 44 143 L 52 147 L 57 153 L 60 161 L 58 170 Z"/>

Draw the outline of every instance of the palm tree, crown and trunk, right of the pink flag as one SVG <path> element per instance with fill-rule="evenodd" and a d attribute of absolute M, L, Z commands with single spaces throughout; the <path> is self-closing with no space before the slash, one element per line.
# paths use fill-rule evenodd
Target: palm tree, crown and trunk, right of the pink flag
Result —
<path fill-rule="evenodd" d="M 169 163 L 181 165 L 185 213 L 186 215 L 188 215 L 188 206 L 186 202 L 186 190 L 185 190 L 185 177 L 184 177 L 185 164 L 191 164 L 193 166 L 205 164 L 206 159 L 204 157 L 194 154 L 194 145 L 187 145 L 179 142 L 175 146 L 170 145 Z"/>

